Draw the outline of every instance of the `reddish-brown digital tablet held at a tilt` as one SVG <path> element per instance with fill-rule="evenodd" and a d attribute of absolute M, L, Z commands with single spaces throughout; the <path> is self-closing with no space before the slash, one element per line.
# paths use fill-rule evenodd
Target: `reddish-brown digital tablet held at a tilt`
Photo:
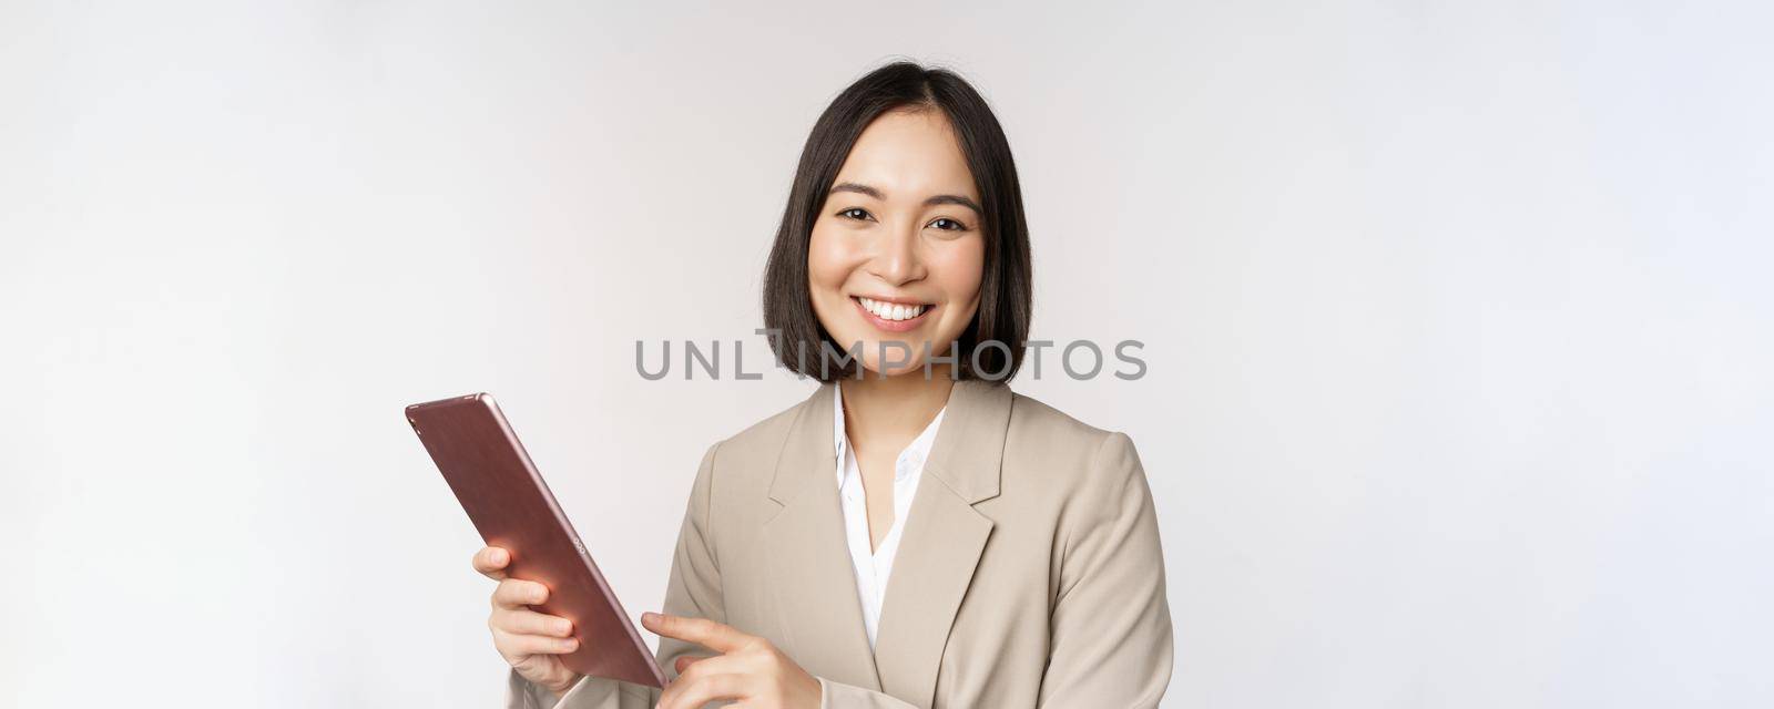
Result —
<path fill-rule="evenodd" d="M 584 675 L 665 686 L 640 631 L 616 601 L 491 395 L 406 408 L 406 422 L 488 546 L 511 551 L 511 578 L 548 587 L 538 612 L 573 620 L 578 651 L 561 661 Z"/>

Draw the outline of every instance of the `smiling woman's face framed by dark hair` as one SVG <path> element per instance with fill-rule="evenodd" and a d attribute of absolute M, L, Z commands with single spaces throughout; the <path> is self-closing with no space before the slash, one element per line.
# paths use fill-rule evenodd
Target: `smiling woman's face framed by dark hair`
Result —
<path fill-rule="evenodd" d="M 812 225 L 807 285 L 820 324 L 846 349 L 860 344 L 871 372 L 921 372 L 926 346 L 946 354 L 979 310 L 983 222 L 940 110 L 875 119 Z"/>

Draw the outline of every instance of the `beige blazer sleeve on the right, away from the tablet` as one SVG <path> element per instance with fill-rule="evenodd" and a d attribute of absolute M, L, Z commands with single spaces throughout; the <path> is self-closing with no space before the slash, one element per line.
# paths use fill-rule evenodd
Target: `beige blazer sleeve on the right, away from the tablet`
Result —
<path fill-rule="evenodd" d="M 1064 532 L 1043 707 L 1157 707 L 1171 682 L 1171 606 L 1146 470 L 1111 432 Z"/>

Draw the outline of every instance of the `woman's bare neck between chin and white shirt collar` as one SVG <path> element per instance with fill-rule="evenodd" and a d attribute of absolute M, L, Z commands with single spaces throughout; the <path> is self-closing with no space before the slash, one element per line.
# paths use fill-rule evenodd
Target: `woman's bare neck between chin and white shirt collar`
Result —
<path fill-rule="evenodd" d="M 930 378 L 924 369 L 882 378 L 864 372 L 862 379 L 844 378 L 837 386 L 844 397 L 844 431 L 859 448 L 869 443 L 891 443 L 894 450 L 910 443 L 924 431 L 937 411 L 949 402 L 954 379 L 949 378 L 947 365 L 931 367 Z"/>

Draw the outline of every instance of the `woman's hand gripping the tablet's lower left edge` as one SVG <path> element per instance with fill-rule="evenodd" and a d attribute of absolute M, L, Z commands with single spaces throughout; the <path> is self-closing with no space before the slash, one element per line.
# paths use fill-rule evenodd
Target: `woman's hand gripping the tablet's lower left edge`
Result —
<path fill-rule="evenodd" d="M 474 555 L 474 571 L 498 581 L 493 588 L 493 615 L 486 619 L 486 627 L 493 631 L 493 647 L 513 670 L 518 670 L 518 675 L 559 695 L 578 681 L 578 672 L 568 670 L 557 658 L 578 649 L 578 640 L 571 638 L 573 622 L 530 610 L 548 601 L 548 587 L 506 578 L 507 564 L 511 551 L 497 546 Z"/>

